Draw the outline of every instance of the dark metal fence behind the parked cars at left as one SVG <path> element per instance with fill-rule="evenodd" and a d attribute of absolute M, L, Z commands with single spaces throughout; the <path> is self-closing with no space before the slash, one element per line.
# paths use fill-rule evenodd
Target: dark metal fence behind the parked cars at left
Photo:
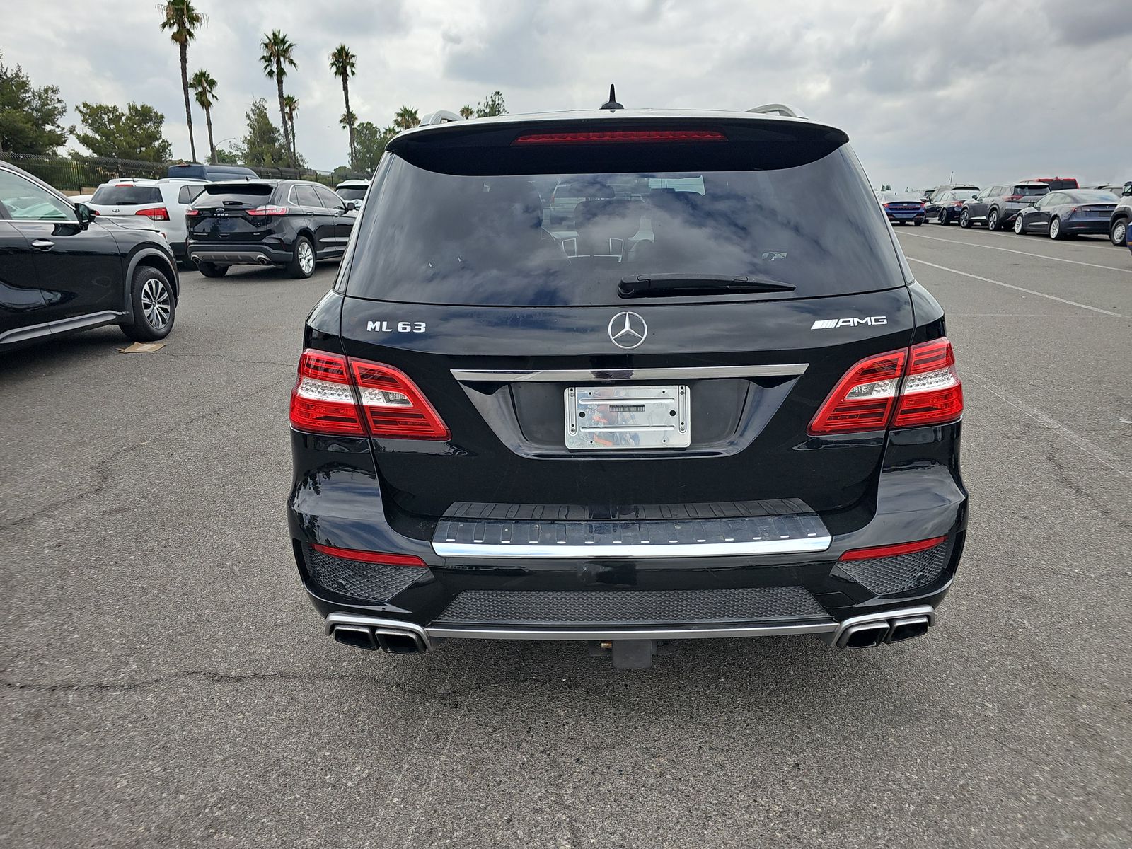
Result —
<path fill-rule="evenodd" d="M 60 191 L 83 194 L 119 177 L 158 180 L 168 175 L 169 166 L 177 162 L 139 162 L 137 160 L 113 160 L 104 156 L 43 156 L 31 153 L 0 153 L 0 160 L 18 165 L 28 173 L 54 186 Z M 259 177 L 281 180 L 314 180 L 333 187 L 341 180 L 366 179 L 365 174 L 314 169 L 257 168 L 249 166 Z"/>

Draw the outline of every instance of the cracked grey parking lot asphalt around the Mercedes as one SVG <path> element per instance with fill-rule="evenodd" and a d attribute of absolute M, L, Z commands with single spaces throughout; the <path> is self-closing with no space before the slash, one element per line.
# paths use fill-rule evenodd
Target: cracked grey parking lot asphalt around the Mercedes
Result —
<path fill-rule="evenodd" d="M 326 640 L 284 521 L 332 284 L 182 275 L 0 363 L 6 847 L 1132 844 L 1132 257 L 898 228 L 949 314 L 972 517 L 924 640 Z"/>

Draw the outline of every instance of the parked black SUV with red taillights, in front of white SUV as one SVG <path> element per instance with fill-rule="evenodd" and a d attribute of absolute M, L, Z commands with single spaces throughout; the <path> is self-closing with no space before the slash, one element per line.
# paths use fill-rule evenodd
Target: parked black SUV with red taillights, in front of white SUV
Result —
<path fill-rule="evenodd" d="M 206 277 L 232 265 L 275 265 L 309 277 L 338 259 L 355 215 L 326 186 L 307 180 L 240 180 L 205 187 L 186 214 L 189 260 Z"/>

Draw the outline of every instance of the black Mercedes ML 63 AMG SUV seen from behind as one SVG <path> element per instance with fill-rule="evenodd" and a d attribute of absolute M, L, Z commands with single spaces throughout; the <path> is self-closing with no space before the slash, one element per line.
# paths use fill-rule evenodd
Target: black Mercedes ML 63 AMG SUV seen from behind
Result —
<path fill-rule="evenodd" d="M 578 199 L 548 222 L 551 192 Z M 833 127 L 593 111 L 420 127 L 380 162 L 291 397 L 326 632 L 925 634 L 963 548 L 940 305 Z"/>

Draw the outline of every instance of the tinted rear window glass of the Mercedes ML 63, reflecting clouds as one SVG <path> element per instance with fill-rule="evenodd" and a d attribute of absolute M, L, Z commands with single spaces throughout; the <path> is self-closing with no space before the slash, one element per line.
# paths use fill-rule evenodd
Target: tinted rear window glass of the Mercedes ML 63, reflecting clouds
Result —
<path fill-rule="evenodd" d="M 889 225 L 848 146 L 792 168 L 645 169 L 468 175 L 391 153 L 358 224 L 346 292 L 575 306 L 624 305 L 623 278 L 655 274 L 747 276 L 795 288 L 711 295 L 718 300 L 904 283 Z"/>

